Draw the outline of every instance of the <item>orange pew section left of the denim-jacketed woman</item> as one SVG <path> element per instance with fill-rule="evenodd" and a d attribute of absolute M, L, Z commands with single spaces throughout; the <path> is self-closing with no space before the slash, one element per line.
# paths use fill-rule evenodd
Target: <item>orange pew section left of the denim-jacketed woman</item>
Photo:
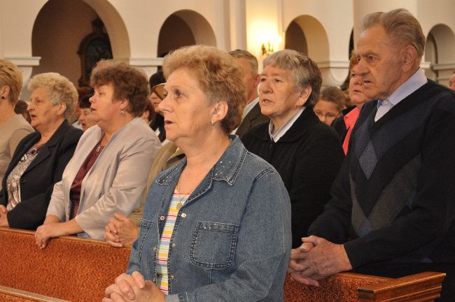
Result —
<path fill-rule="evenodd" d="M 65 236 L 40 250 L 34 232 L 0 229 L 0 255 L 3 287 L 69 301 L 101 301 L 104 289 L 126 271 L 130 248 Z"/>

